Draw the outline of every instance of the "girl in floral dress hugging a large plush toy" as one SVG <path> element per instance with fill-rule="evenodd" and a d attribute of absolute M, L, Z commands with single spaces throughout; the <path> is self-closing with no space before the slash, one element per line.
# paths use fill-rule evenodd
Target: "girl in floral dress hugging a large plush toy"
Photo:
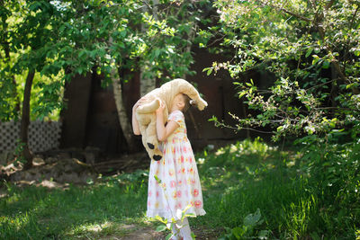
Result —
<path fill-rule="evenodd" d="M 138 135 L 139 125 L 134 117 L 134 111 L 143 101 L 140 99 L 134 105 L 132 114 L 133 130 Z M 147 210 L 149 218 L 158 215 L 170 220 L 175 218 L 177 209 L 183 211 L 189 205 L 191 207 L 186 213 L 193 213 L 195 216 L 205 214 L 202 205 L 202 187 L 193 149 L 186 136 L 183 112 L 189 106 L 190 98 L 187 95 L 183 93 L 175 95 L 166 123 L 163 120 L 165 104 L 161 102 L 157 109 L 157 138 L 162 142 L 164 156 L 160 161 L 151 160 L 150 164 Z M 155 179 L 155 175 L 161 180 L 160 184 Z M 173 229 L 172 239 L 192 239 L 187 218 L 180 225 L 182 227 L 179 231 Z"/>

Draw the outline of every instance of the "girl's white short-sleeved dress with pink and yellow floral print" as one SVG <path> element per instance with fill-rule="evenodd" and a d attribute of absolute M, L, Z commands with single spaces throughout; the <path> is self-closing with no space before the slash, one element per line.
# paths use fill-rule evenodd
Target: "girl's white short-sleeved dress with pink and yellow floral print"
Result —
<path fill-rule="evenodd" d="M 193 149 L 186 136 L 186 126 L 182 111 L 173 111 L 168 120 L 179 124 L 165 142 L 163 142 L 163 158 L 151 160 L 148 176 L 148 210 L 147 216 L 154 218 L 176 218 L 176 210 L 191 208 L 186 213 L 196 216 L 204 215 L 202 202 L 202 186 Z M 155 175 L 161 181 L 159 184 Z"/>

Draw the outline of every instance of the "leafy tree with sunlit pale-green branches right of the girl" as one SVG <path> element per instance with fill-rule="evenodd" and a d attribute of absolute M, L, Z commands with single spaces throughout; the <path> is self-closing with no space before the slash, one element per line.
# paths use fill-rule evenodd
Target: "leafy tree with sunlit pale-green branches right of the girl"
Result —
<path fill-rule="evenodd" d="M 358 1 L 218 0 L 214 6 L 220 33 L 213 35 L 235 55 L 204 70 L 211 74 L 223 67 L 239 79 L 251 69 L 275 76 L 269 89 L 260 89 L 254 81 L 238 82 L 239 97 L 257 114 L 234 116 L 235 129 L 271 126 L 275 138 L 325 137 L 343 130 L 358 136 Z"/>

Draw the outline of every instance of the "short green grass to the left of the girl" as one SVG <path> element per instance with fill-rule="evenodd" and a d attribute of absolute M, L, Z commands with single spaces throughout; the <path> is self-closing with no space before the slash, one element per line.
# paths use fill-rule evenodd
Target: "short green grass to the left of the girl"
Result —
<path fill-rule="evenodd" d="M 139 172 L 140 173 L 140 172 Z M 123 236 L 128 224 L 144 225 L 146 176 L 67 190 L 5 184 L 0 201 L 0 239 L 97 239 Z M 127 184 L 125 184 L 127 183 Z"/>

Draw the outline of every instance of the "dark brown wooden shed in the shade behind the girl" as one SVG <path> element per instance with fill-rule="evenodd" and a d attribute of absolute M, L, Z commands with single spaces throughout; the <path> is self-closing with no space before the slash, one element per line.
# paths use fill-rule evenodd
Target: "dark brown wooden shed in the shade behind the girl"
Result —
<path fill-rule="evenodd" d="M 238 133 L 231 129 L 220 129 L 209 121 L 212 116 L 233 124 L 229 112 L 239 117 L 247 115 L 246 105 L 238 99 L 237 90 L 229 74 L 220 70 L 216 76 L 207 76 L 202 72 L 204 67 L 211 66 L 213 61 L 225 60 L 222 56 L 211 54 L 204 49 L 193 49 L 194 63 L 192 70 L 195 76 L 186 80 L 197 84 L 203 98 L 209 103 L 204 111 L 190 109 L 185 114 L 188 137 L 195 150 L 207 145 L 221 145 L 238 138 L 247 138 L 247 131 Z M 262 78 L 257 74 L 248 76 Z M 103 88 L 101 76 L 87 74 L 76 76 L 66 86 L 65 99 L 67 109 L 61 112 L 63 123 L 61 147 L 98 147 L 109 155 L 121 155 L 127 152 L 126 140 L 121 132 L 112 86 Z M 139 74 L 123 84 L 123 101 L 129 119 L 131 107 L 139 99 Z M 142 150 L 138 138 L 139 151 Z"/>

